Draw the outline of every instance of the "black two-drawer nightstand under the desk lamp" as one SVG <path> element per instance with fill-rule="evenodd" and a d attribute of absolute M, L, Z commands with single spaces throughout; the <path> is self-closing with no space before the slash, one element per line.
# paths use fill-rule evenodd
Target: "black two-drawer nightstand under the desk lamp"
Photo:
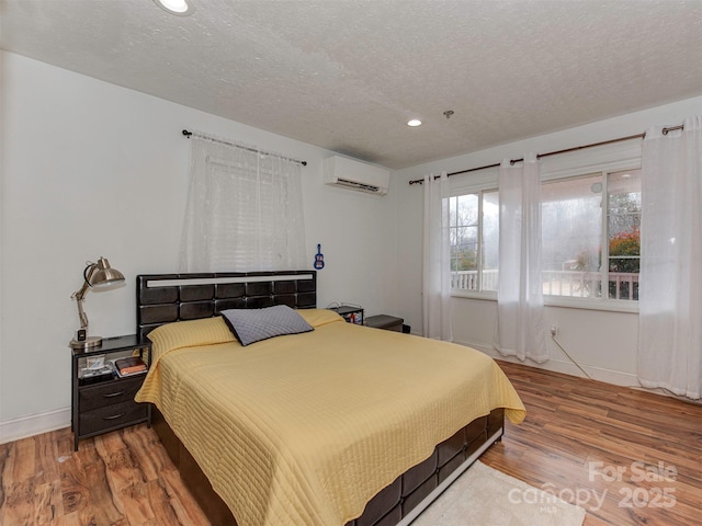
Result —
<path fill-rule="evenodd" d="M 137 340 L 136 334 L 105 338 L 99 347 L 71 348 L 71 412 L 73 450 L 78 441 L 115 431 L 128 425 L 151 424 L 151 405 L 134 401 L 146 374 L 120 378 L 115 375 L 82 377 L 81 369 L 89 358 L 104 355 L 107 363 L 115 358 L 138 354 L 147 367 L 151 361 L 151 342 Z"/>

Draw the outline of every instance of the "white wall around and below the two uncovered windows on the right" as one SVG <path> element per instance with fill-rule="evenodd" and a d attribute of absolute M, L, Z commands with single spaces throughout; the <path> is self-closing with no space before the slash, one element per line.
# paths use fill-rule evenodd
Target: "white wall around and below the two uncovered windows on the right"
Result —
<path fill-rule="evenodd" d="M 397 261 L 398 313 L 421 331 L 421 185 L 409 185 L 415 179 L 441 171 L 454 172 L 500 162 L 503 158 L 518 159 L 524 153 L 544 153 L 565 148 L 627 137 L 656 125 L 679 125 L 689 115 L 702 113 L 702 96 L 653 107 L 587 126 L 556 134 L 511 142 L 503 146 L 451 159 L 400 170 L 397 175 Z M 631 148 L 630 148 L 631 149 Z M 556 158 L 550 158 L 554 160 Z M 461 178 L 483 178 L 484 171 Z M 454 340 L 474 346 L 492 356 L 492 334 L 497 307 L 495 301 L 454 297 Z M 631 312 L 609 312 L 562 307 L 546 308 L 546 327 L 558 328 L 558 341 L 566 352 L 592 377 L 620 385 L 637 385 L 636 353 L 638 345 L 638 316 Z M 543 367 L 582 376 L 566 354 L 548 342 L 551 359 Z M 536 365 L 530 363 L 529 365 Z"/>

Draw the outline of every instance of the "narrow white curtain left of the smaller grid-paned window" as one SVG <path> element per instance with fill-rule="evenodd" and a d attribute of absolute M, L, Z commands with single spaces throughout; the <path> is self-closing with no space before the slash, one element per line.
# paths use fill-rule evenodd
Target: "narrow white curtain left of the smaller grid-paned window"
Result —
<path fill-rule="evenodd" d="M 451 243 L 449 176 L 424 176 L 422 329 L 427 338 L 453 340 L 451 327 Z"/>

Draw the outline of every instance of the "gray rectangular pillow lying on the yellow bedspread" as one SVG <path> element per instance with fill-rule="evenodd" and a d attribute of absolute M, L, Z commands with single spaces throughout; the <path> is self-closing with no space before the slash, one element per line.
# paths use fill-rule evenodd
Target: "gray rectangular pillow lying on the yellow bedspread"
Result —
<path fill-rule="evenodd" d="M 241 345 L 285 334 L 298 334 L 314 329 L 286 305 L 263 309 L 229 309 L 222 316 Z"/>

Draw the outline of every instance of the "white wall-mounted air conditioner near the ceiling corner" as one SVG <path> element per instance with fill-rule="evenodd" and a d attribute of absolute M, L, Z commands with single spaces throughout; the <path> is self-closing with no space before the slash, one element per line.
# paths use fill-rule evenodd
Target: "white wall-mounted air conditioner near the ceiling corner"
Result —
<path fill-rule="evenodd" d="M 389 183 L 390 171 L 384 168 L 347 157 L 333 156 L 325 159 L 325 184 L 385 195 Z"/>

